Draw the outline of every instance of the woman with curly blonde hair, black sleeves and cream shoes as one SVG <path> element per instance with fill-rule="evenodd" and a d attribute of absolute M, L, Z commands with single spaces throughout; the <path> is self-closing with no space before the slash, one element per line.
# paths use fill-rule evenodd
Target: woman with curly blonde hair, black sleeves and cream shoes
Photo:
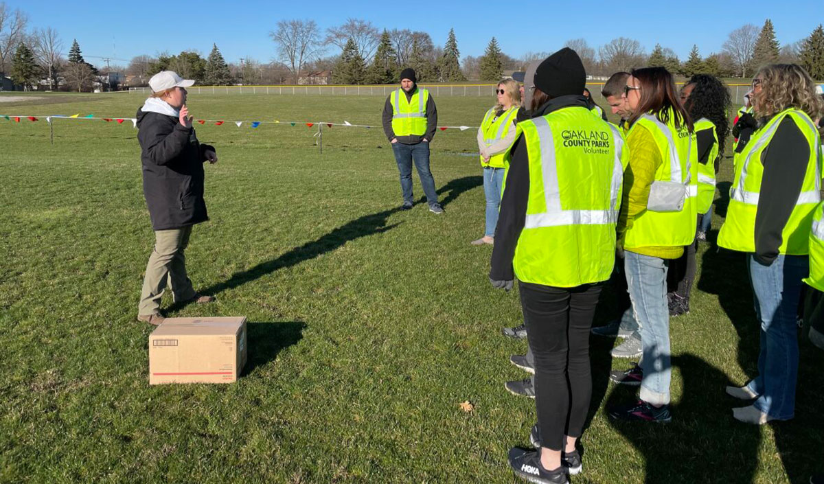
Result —
<path fill-rule="evenodd" d="M 761 326 L 758 375 L 727 393 L 751 402 L 733 408 L 737 420 L 761 425 L 795 412 L 798 299 L 821 201 L 821 141 L 812 120 L 824 106 L 808 73 L 795 64 L 761 67 L 751 102 L 758 126 L 735 170 L 719 245 L 747 254 Z"/>

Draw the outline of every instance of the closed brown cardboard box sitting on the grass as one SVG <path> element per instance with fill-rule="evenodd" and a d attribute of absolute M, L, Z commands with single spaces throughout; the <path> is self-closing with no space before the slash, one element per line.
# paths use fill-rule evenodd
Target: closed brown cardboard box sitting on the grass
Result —
<path fill-rule="evenodd" d="M 246 318 L 166 318 L 149 336 L 149 384 L 232 383 L 246 364 Z"/>

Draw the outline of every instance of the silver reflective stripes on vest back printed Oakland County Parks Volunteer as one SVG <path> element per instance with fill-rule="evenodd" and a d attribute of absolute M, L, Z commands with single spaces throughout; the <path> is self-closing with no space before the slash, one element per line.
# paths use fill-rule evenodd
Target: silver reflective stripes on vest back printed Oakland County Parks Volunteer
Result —
<path fill-rule="evenodd" d="M 615 167 L 612 170 L 612 184 L 610 187 L 611 208 L 609 210 L 564 210 L 561 208 L 558 165 L 555 160 L 555 139 L 552 136 L 550 124 L 543 116 L 532 119 L 532 122 L 535 123 L 538 138 L 541 141 L 541 175 L 544 181 L 546 212 L 527 214 L 524 228 L 616 223 L 618 221 L 618 193 L 620 193 L 620 185 L 624 175 L 624 168 L 620 161 L 624 139 L 620 136 L 618 129 L 610 125 L 616 143 Z"/>

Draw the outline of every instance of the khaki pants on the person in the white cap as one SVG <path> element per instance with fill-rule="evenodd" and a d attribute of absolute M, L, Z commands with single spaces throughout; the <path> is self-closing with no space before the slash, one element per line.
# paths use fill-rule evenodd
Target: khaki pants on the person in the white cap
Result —
<path fill-rule="evenodd" d="M 155 247 L 146 265 L 138 314 L 155 314 L 160 311 L 160 301 L 167 283 L 176 302 L 194 297 L 194 287 L 186 275 L 184 255 L 191 233 L 191 226 L 155 230 Z"/>

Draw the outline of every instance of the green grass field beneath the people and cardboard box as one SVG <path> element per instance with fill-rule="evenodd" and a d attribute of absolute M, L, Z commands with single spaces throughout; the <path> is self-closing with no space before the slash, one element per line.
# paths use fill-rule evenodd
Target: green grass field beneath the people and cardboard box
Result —
<path fill-rule="evenodd" d="M 133 117 L 141 95 L 40 95 L 0 114 Z M 440 97 L 440 124 L 477 125 L 489 98 Z M 152 230 L 137 131 L 103 121 L 0 119 L 0 482 L 513 482 L 532 400 L 504 381 L 524 342 L 517 291 L 487 280 L 475 130 L 439 132 L 432 170 L 446 213 L 400 212 L 380 129 L 229 121 L 379 124 L 383 99 L 190 97 L 218 148 L 206 166 L 211 221 L 187 250 L 218 297 L 176 316 L 245 315 L 250 361 L 230 385 L 150 387 L 137 323 Z M 602 104 L 603 105 L 603 104 Z M 723 163 L 722 180 L 731 177 Z M 728 183 L 721 184 L 724 192 Z M 416 197 L 423 195 L 417 178 Z M 724 213 L 719 198 L 716 230 Z M 592 339 L 593 400 L 574 482 L 807 482 L 824 472 L 824 352 L 801 346 L 793 421 L 733 420 L 725 384 L 755 374 L 758 326 L 743 257 L 700 248 L 691 313 L 672 320 L 674 421 L 620 425 L 604 408 L 613 341 Z M 616 315 L 602 297 L 596 324 Z M 170 305 L 171 300 L 166 300 Z M 464 412 L 459 403 L 475 408 Z"/>

